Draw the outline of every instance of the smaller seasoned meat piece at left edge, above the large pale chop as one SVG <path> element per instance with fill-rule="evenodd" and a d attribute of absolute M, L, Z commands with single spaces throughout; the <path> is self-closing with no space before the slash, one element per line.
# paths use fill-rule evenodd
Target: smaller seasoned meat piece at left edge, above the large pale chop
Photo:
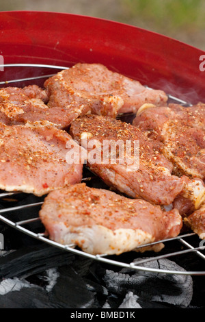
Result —
<path fill-rule="evenodd" d="M 49 121 L 60 129 L 65 128 L 72 116 L 63 108 L 48 108 L 47 100 L 46 90 L 36 85 L 1 88 L 0 121 L 8 125 Z"/>

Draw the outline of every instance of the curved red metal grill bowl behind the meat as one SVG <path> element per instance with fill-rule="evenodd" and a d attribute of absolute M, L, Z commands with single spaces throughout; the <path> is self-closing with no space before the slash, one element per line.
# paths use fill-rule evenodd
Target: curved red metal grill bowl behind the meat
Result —
<path fill-rule="evenodd" d="M 0 12 L 0 23 L 4 64 L 100 62 L 190 103 L 205 101 L 205 72 L 200 71 L 204 51 L 178 40 L 123 23 L 56 12 Z M 5 79 L 5 73 L 0 77 Z"/>

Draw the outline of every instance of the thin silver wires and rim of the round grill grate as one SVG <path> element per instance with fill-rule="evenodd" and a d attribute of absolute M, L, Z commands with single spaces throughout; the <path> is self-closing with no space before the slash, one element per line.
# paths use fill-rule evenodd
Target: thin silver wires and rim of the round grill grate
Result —
<path fill-rule="evenodd" d="M 48 77 L 51 77 L 53 75 L 55 75 L 56 70 L 63 70 L 63 69 L 68 69 L 69 67 L 66 66 L 55 66 L 55 65 L 48 65 L 48 64 L 4 64 L 4 65 L 0 65 L 0 67 L 24 67 L 24 68 L 29 68 L 29 69 L 53 69 L 53 73 L 52 74 L 44 74 L 44 75 L 38 75 L 38 76 L 33 76 L 33 77 L 20 77 L 20 78 L 15 78 L 15 79 L 9 79 L 9 80 L 3 80 L 0 82 L 0 85 L 3 84 L 12 84 L 12 83 L 17 83 L 17 82 L 27 82 L 30 80 L 36 80 L 36 79 L 46 79 Z M 148 89 L 152 89 L 148 86 L 146 86 L 146 88 Z M 171 99 L 172 101 L 175 101 L 176 103 L 180 103 L 180 104 L 184 104 L 186 106 L 191 106 L 191 104 L 187 103 L 186 101 L 183 101 L 182 99 L 178 99 L 177 97 L 174 97 L 173 95 L 169 95 L 167 94 L 167 97 L 169 99 Z M 93 177 L 85 177 L 82 179 L 82 181 L 91 181 L 93 179 Z M 0 200 L 4 199 L 4 198 L 9 198 L 15 195 L 18 195 L 18 191 L 15 192 L 5 192 L 2 191 L 0 193 Z M 106 264 L 111 264 L 111 265 L 115 265 L 118 267 L 123 267 L 123 268 L 128 268 L 128 269 L 135 269 L 135 270 L 139 270 L 139 271 L 150 271 L 150 272 L 155 272 L 155 273 L 167 273 L 167 274 L 178 274 L 178 275 L 205 275 L 205 271 L 186 271 L 186 270 L 182 270 L 182 271 L 172 271 L 172 270 L 167 270 L 167 269 L 153 269 L 150 267 L 143 267 L 140 266 L 140 264 L 146 263 L 146 262 L 152 262 L 154 260 L 160 260 L 162 258 L 170 258 L 170 257 L 174 257 L 174 256 L 180 256 L 180 255 L 184 255 L 184 254 L 189 254 L 189 253 L 194 253 L 197 256 L 199 256 L 202 260 L 205 260 L 205 255 L 202 252 L 205 249 L 205 243 L 202 243 L 202 246 L 199 247 L 193 247 L 193 245 L 191 245 L 191 243 L 189 243 L 187 240 L 185 240 L 186 238 L 189 238 L 191 236 L 196 236 L 196 234 L 194 232 L 188 233 L 188 234 L 180 234 L 179 236 L 176 236 L 175 238 L 168 238 L 165 240 L 159 240 L 157 242 L 154 243 L 150 243 L 147 245 L 143 245 L 143 246 L 139 246 L 137 247 L 137 249 L 140 249 L 141 247 L 147 247 L 147 246 L 152 246 L 155 244 L 159 244 L 159 243 L 168 243 L 168 242 L 179 242 L 183 245 L 183 247 L 187 247 L 186 249 L 180 250 L 180 251 L 171 251 L 168 253 L 163 253 L 162 255 L 159 256 L 153 256 L 153 257 L 149 257 L 149 258 L 139 258 L 139 260 L 137 260 L 137 262 L 125 262 L 125 261 L 120 261 L 120 256 L 118 256 L 118 260 L 116 259 L 111 259 L 109 258 L 109 256 L 107 256 L 107 254 L 97 254 L 97 255 L 92 255 L 90 253 L 85 253 L 85 251 L 81 251 L 80 249 L 76 248 L 76 245 L 61 245 L 59 243 L 56 243 L 53 240 L 49 239 L 49 236 L 46 235 L 46 233 L 40 233 L 40 232 L 33 232 L 30 228 L 27 229 L 24 227 L 24 225 L 27 225 L 27 223 L 35 223 L 36 221 L 40 221 L 40 217 L 38 216 L 38 211 L 36 212 L 36 217 L 31 218 L 31 219 L 25 219 L 25 220 L 21 220 L 21 221 L 12 221 L 11 219 L 8 219 L 6 217 L 6 214 L 9 214 L 11 212 L 15 212 L 18 210 L 24 210 L 24 209 L 29 209 L 29 208 L 36 208 L 37 206 L 42 206 L 43 201 L 40 202 L 35 202 L 35 203 L 28 203 L 25 205 L 21 205 L 21 206 L 12 206 L 12 207 L 8 207 L 8 208 L 3 208 L 0 209 L 0 220 L 3 221 L 3 223 L 10 225 L 11 227 L 13 227 L 14 229 L 23 232 L 24 234 L 27 234 L 28 236 L 31 236 L 33 238 L 36 238 L 40 241 L 42 241 L 43 243 L 52 245 L 53 247 L 58 247 L 60 249 L 64 249 L 65 251 L 70 251 L 71 253 L 75 253 L 79 256 L 84 256 L 87 258 L 90 258 L 92 260 L 98 260 L 100 262 L 106 263 Z M 198 245 L 200 245 L 200 239 L 198 240 Z"/>

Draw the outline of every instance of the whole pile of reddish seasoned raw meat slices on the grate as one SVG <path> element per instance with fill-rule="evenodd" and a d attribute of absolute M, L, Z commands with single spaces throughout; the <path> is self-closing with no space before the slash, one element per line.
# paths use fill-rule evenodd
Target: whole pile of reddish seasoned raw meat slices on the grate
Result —
<path fill-rule="evenodd" d="M 178 106 L 166 104 L 162 90 L 147 89 L 102 64 L 76 64 L 47 79 L 44 88 L 2 88 L 0 188 L 48 194 L 40 218 L 49 237 L 89 253 L 119 254 L 177 236 L 182 214 L 203 203 L 203 149 L 189 151 L 190 165 L 184 161 L 188 152 L 181 158 L 179 148 L 169 148 L 173 138 L 181 138 L 176 114 L 187 129 L 191 112 L 185 121 Z M 148 107 L 164 119 L 163 109 L 171 109 L 169 126 L 159 116 L 152 131 L 149 117 L 141 123 Z M 115 119 L 127 112 L 137 113 L 133 125 Z M 191 138 L 202 145 L 197 109 L 194 117 Z M 84 162 L 109 190 L 81 184 Z"/>

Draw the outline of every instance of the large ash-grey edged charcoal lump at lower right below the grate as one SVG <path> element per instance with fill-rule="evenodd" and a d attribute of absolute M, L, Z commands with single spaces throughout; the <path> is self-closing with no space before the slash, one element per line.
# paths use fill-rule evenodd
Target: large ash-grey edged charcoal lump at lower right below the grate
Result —
<path fill-rule="evenodd" d="M 140 265 L 152 269 L 184 270 L 167 259 L 155 260 Z M 154 273 L 134 269 L 122 269 L 120 272 L 107 270 L 103 280 L 107 289 L 112 293 L 125 295 L 127 290 L 130 290 L 135 295 L 138 295 L 139 304 L 141 304 L 141 301 L 143 303 L 144 299 L 145 301 L 162 302 L 180 308 L 187 308 L 193 297 L 192 277 L 185 274 Z"/>

